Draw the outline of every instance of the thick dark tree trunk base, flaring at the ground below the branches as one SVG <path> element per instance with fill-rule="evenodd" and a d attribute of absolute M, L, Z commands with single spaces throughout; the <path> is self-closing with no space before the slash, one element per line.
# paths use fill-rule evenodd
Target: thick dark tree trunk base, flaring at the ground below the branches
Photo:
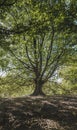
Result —
<path fill-rule="evenodd" d="M 37 83 L 35 86 L 34 92 L 31 94 L 32 96 L 45 96 L 45 94 L 42 91 L 42 84 Z"/>

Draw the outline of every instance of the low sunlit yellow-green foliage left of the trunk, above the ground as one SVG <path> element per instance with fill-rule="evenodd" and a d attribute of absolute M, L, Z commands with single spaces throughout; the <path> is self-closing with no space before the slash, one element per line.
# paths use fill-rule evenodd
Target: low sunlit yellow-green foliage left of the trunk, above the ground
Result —
<path fill-rule="evenodd" d="M 12 78 L 12 79 L 11 79 Z M 17 97 L 23 95 L 29 95 L 33 92 L 32 84 L 26 84 L 17 82 L 14 77 L 1 77 L 0 78 L 0 97 Z"/>

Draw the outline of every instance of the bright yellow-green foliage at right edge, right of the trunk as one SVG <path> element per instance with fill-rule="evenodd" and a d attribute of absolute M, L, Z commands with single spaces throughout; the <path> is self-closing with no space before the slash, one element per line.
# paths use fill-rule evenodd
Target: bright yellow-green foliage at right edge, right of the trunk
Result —
<path fill-rule="evenodd" d="M 60 70 L 60 77 L 63 78 L 62 86 L 68 90 L 69 93 L 77 94 L 77 63 L 74 62 L 64 69 Z"/>

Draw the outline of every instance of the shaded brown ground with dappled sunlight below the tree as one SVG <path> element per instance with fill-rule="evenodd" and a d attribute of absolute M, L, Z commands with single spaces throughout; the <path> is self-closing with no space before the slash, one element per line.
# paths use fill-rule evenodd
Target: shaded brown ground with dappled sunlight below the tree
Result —
<path fill-rule="evenodd" d="M 0 130 L 77 130 L 77 96 L 1 98 Z"/>

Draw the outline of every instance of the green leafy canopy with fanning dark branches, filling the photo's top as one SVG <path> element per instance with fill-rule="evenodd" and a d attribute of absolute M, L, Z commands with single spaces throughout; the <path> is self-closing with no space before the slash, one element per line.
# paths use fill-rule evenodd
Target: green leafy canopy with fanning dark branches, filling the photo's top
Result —
<path fill-rule="evenodd" d="M 76 57 L 77 2 L 4 0 L 0 7 L 1 69 L 43 94 L 43 84 Z"/>

